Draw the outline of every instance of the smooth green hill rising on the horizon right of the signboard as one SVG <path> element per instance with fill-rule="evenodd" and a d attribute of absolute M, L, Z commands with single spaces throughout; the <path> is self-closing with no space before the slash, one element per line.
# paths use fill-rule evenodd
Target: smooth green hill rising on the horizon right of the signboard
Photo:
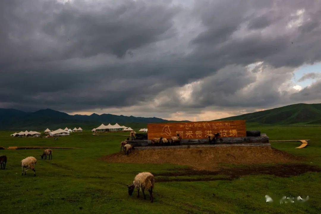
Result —
<path fill-rule="evenodd" d="M 220 120 L 246 120 L 262 124 L 321 124 L 321 104 L 293 104 Z"/>

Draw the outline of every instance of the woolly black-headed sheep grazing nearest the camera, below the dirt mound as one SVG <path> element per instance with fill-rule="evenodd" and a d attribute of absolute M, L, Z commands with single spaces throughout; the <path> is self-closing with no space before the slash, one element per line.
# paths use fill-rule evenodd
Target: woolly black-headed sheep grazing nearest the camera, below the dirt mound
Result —
<path fill-rule="evenodd" d="M 144 190 L 147 190 L 149 192 L 149 195 L 151 197 L 151 202 L 153 202 L 153 188 L 155 184 L 155 177 L 150 172 L 141 172 L 137 174 L 134 178 L 134 181 L 131 185 L 127 185 L 128 187 L 128 194 L 132 195 L 134 192 L 134 189 L 137 188 L 137 198 L 139 198 L 139 190 L 143 192 L 144 199 L 146 199 L 146 195 L 144 193 Z"/>

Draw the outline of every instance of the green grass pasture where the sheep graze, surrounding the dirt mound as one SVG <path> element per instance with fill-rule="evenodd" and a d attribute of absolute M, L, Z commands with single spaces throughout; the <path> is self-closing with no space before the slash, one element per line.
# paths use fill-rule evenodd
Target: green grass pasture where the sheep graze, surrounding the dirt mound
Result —
<path fill-rule="evenodd" d="M 299 142 L 275 142 L 272 146 L 302 157 L 302 163 L 321 167 L 321 127 L 259 126 L 270 140 L 310 139 L 305 149 Z M 173 164 L 116 164 L 99 160 L 119 152 L 121 136 L 92 136 L 89 131 L 53 138 L 13 138 L 0 132 L 0 146 L 63 146 L 73 150 L 53 150 L 53 160 L 41 160 L 42 150 L 0 150 L 8 157 L 0 171 L 0 213 L 320 213 L 321 172 L 298 176 L 247 175 L 232 181 L 156 183 L 154 202 L 129 196 L 126 184 L 138 172 L 154 174 L 179 171 L 188 166 Z M 37 176 L 28 170 L 21 176 L 20 161 L 38 159 Z M 126 157 L 124 157 L 126 158 Z M 239 166 L 230 166 L 239 167 Z M 191 177 L 211 177 L 193 175 Z M 220 177 L 220 175 L 215 175 Z M 169 178 L 188 178 L 176 176 Z M 214 175 L 213 175 L 214 177 Z M 157 180 L 157 177 L 156 177 Z M 215 195 L 213 195 L 213 193 Z M 266 203 L 270 195 L 276 203 Z M 282 196 L 309 196 L 304 203 L 279 204 Z"/>

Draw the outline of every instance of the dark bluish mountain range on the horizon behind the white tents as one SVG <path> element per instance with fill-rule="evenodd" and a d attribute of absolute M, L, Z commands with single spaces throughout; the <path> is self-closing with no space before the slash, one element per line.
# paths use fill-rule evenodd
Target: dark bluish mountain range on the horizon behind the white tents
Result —
<path fill-rule="evenodd" d="M 42 130 L 45 128 L 92 129 L 100 124 L 119 123 L 125 126 L 146 127 L 147 123 L 171 122 L 157 117 L 134 117 L 112 114 L 68 115 L 52 109 L 41 109 L 36 112 L 23 112 L 16 109 L 0 108 L 0 130 Z"/>

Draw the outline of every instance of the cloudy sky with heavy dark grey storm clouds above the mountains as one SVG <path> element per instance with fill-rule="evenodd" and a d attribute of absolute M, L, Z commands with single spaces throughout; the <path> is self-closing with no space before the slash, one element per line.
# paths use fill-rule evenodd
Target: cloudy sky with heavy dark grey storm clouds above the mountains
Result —
<path fill-rule="evenodd" d="M 0 1 L 0 108 L 213 120 L 321 101 L 321 1 Z"/>

